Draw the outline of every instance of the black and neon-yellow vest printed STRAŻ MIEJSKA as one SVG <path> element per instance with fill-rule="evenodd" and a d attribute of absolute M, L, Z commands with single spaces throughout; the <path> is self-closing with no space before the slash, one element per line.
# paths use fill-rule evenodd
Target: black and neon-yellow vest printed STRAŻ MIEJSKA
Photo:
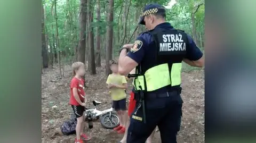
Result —
<path fill-rule="evenodd" d="M 156 58 L 152 62 L 155 66 L 141 71 L 143 66 L 136 68 L 137 78 L 133 80 L 135 90 L 154 91 L 165 86 L 179 86 L 181 84 L 181 62 L 186 56 L 188 38 L 182 30 L 166 30 L 157 28 L 148 31 L 155 41 Z M 139 71 L 140 69 L 140 71 Z"/>

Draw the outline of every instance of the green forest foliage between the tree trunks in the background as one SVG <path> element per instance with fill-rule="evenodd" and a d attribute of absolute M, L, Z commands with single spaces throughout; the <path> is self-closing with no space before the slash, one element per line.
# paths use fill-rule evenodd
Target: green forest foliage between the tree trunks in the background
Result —
<path fill-rule="evenodd" d="M 173 1 L 173 0 L 172 0 Z M 204 1 L 199 0 L 176 0 L 171 9 L 166 10 L 166 20 L 172 24 L 173 27 L 181 30 L 185 30 L 190 36 L 193 36 L 192 32 L 192 22 L 191 13 L 195 11 L 195 7 L 198 4 L 204 3 Z M 114 1 L 114 22 L 111 23 L 114 26 L 114 44 L 113 44 L 113 55 L 117 56 L 119 48 L 121 47 L 120 41 L 122 41 L 124 36 L 124 24 L 123 20 L 125 6 L 129 5 L 130 1 L 115 0 Z M 148 3 L 158 3 L 162 5 L 167 5 L 170 0 L 141 0 L 131 1 L 131 6 L 129 10 L 128 19 L 126 22 L 126 40 L 128 40 L 135 27 L 137 26 L 136 12 L 139 14 L 142 12 L 143 7 Z M 52 15 L 55 10 L 53 6 L 53 0 L 43 0 L 43 5 L 45 7 L 45 27 L 46 35 L 49 40 L 47 43 L 51 46 L 56 43 L 56 38 L 54 37 L 56 33 L 56 22 L 55 15 Z M 97 11 L 96 11 L 96 1 L 94 0 L 94 19 L 91 23 L 93 27 L 94 36 L 96 36 L 96 28 L 100 28 L 101 39 L 105 37 L 107 30 L 107 12 L 108 12 L 108 1 L 100 1 L 101 7 L 101 20 L 97 21 Z M 53 9 L 52 9 L 53 6 Z M 53 13 L 52 13 L 53 10 Z M 119 15 L 121 11 L 121 15 Z M 65 52 L 66 59 L 72 59 L 68 56 L 74 56 L 74 47 L 78 45 L 79 42 L 79 15 L 81 13 L 80 1 L 79 0 L 57 0 L 57 16 L 58 16 L 58 31 L 59 31 L 59 41 L 60 48 L 59 51 Z M 118 19 L 119 18 L 119 19 Z M 201 44 L 201 49 L 203 50 L 202 41 L 204 41 L 204 5 L 200 6 L 198 11 L 195 13 L 195 24 L 196 31 L 198 33 L 198 40 Z M 84 31 L 87 34 L 89 31 Z M 141 31 L 140 31 L 141 32 Z M 117 35 L 119 33 L 119 37 Z M 201 38 L 202 37 L 202 38 Z M 135 38 L 135 37 L 134 37 Z M 133 38 L 133 39 L 134 39 Z M 119 41 L 118 41 L 119 39 Z M 94 42 L 96 42 L 94 40 Z M 104 41 L 107 42 L 107 41 Z M 131 41 L 132 42 L 132 41 Z M 101 46 L 104 46 L 103 42 Z M 96 48 L 96 46 L 94 46 Z M 102 55 L 105 54 L 105 47 L 102 49 Z"/>

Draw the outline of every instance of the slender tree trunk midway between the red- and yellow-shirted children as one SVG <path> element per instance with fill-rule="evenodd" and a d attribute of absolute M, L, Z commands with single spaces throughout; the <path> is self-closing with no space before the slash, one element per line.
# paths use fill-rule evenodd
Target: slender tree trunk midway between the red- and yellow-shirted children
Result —
<path fill-rule="evenodd" d="M 100 22 L 100 0 L 97 0 L 97 21 Z M 101 60 L 100 60 L 100 26 L 97 27 L 97 38 L 96 38 L 96 43 L 97 43 L 97 52 L 96 52 L 96 65 L 99 67 L 101 66 Z"/>

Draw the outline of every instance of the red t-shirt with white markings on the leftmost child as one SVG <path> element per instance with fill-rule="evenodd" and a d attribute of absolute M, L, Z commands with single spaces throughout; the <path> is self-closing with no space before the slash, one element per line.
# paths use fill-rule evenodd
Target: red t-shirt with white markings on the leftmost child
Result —
<path fill-rule="evenodd" d="M 81 102 L 84 102 L 85 92 L 84 92 L 84 80 L 83 79 L 77 79 L 73 78 L 70 82 L 70 99 L 69 104 L 70 105 L 80 105 L 73 94 L 73 88 L 77 88 L 78 96 L 81 100 Z"/>

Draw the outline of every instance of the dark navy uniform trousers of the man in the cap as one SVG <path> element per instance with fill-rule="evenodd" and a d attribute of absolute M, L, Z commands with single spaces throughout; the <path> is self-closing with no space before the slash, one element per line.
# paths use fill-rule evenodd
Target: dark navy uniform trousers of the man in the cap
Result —
<path fill-rule="evenodd" d="M 143 123 L 142 106 L 136 105 L 131 115 L 127 143 L 144 143 L 158 126 L 162 143 L 176 143 L 182 116 L 182 99 L 178 92 L 169 92 L 168 97 L 146 99 L 146 124 Z M 150 95 L 147 95 L 150 96 Z M 136 112 L 137 111 L 137 112 Z"/>

